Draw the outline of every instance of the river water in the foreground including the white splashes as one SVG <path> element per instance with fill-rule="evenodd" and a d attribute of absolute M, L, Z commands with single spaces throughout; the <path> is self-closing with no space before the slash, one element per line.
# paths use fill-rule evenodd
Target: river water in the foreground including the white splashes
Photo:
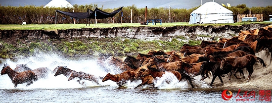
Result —
<path fill-rule="evenodd" d="M 5 59 L 2 63 L 7 63 L 12 69 L 16 64 L 27 64 L 28 67 L 35 69 L 38 67 L 48 67 L 53 70 L 57 66 L 67 66 L 67 68 L 84 71 L 95 76 L 105 76 L 107 73 L 118 74 L 112 65 L 101 68 L 93 57 L 83 59 L 60 57 L 54 53 L 37 53 L 31 57 L 20 57 L 17 60 Z M 0 65 L 1 67 L 3 64 Z M 237 103 L 235 99 L 225 101 L 222 99 L 222 91 L 225 89 L 211 88 L 207 83 L 194 81 L 196 89 L 191 89 L 187 82 L 178 80 L 173 74 L 166 73 L 158 79 L 155 86 L 158 89 L 143 86 L 134 89 L 141 81 L 128 82 L 124 87 L 118 88 L 115 82 L 110 80 L 99 85 L 85 81 L 84 85 L 79 84 L 77 79 L 67 81 L 64 75 L 48 75 L 46 79 L 40 79 L 30 86 L 19 84 L 14 88 L 7 75 L 0 76 L 0 102 L 1 103 Z M 170 84 L 165 80 L 171 80 Z M 235 90 L 232 90 L 235 92 Z M 235 92 L 237 94 L 237 92 Z M 237 98 L 236 98 L 237 99 Z M 255 99 L 255 98 L 254 98 Z M 256 94 L 256 101 L 258 95 Z M 244 103 L 244 102 L 242 102 Z"/>

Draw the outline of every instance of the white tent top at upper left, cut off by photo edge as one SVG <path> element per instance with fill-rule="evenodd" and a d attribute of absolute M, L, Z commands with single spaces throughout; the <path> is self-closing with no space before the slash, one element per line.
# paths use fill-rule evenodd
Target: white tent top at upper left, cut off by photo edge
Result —
<path fill-rule="evenodd" d="M 47 3 L 45 7 L 72 7 L 74 6 L 69 3 L 67 0 L 51 0 L 49 3 Z"/>

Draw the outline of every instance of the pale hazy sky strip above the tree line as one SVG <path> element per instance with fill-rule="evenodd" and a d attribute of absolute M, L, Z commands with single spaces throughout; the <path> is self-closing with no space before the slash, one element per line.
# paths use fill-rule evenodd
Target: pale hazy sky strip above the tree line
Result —
<path fill-rule="evenodd" d="M 25 5 L 35 5 L 44 6 L 51 0 L 0 0 L 1 6 L 25 6 Z M 121 6 L 131 6 L 133 4 L 138 8 L 142 7 L 169 7 L 171 8 L 192 8 L 201 5 L 201 0 L 67 0 L 72 5 L 86 5 L 86 4 L 97 4 L 98 7 L 103 8 L 119 8 Z M 202 4 L 213 0 L 202 0 Z M 231 6 L 236 6 L 238 4 L 246 4 L 248 7 L 252 6 L 272 6 L 272 0 L 214 0 L 215 2 L 221 4 L 230 3 Z"/>

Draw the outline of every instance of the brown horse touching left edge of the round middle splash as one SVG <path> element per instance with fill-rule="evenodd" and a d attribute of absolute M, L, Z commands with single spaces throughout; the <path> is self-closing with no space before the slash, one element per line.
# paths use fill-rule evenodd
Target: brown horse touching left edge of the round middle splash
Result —
<path fill-rule="evenodd" d="M 143 85 L 152 85 L 152 87 L 155 87 L 154 78 L 151 75 L 147 75 L 147 76 L 142 77 L 141 76 L 142 73 L 143 73 L 143 71 L 139 71 L 134 77 L 134 79 L 137 79 L 139 77 L 141 79 L 141 84 L 136 86 L 135 89 L 137 87 L 140 87 L 140 86 L 143 86 Z"/>

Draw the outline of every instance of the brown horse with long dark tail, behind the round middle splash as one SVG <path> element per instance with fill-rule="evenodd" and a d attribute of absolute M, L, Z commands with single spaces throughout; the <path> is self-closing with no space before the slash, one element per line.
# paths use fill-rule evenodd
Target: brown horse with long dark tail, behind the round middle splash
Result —
<path fill-rule="evenodd" d="M 163 74 L 165 74 L 165 71 L 158 70 L 157 67 L 156 67 L 156 65 L 152 65 L 152 66 L 148 67 L 148 69 L 140 69 L 140 71 L 143 71 L 143 73 L 141 74 L 142 77 L 151 75 L 154 79 L 156 79 L 157 77 L 160 78 L 160 77 L 163 76 Z M 179 81 L 181 81 L 181 80 L 187 80 L 190 83 L 190 85 L 192 86 L 192 88 L 194 88 L 194 86 L 192 84 L 192 79 L 193 78 L 191 78 L 187 74 L 180 73 L 180 72 L 175 71 L 175 70 L 167 71 L 167 72 L 173 73 L 177 77 L 177 79 Z"/>

